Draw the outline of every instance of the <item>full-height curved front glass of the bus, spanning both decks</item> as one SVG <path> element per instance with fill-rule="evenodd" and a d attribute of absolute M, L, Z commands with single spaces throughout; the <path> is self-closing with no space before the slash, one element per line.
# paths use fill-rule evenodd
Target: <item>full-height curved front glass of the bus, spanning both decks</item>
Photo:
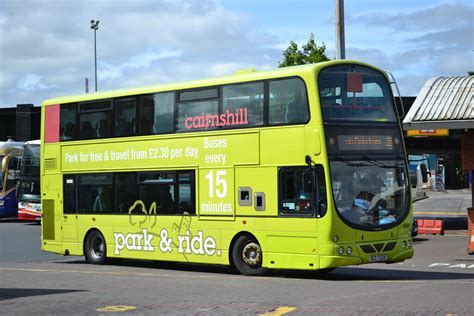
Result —
<path fill-rule="evenodd" d="M 348 225 L 382 230 L 409 210 L 403 140 L 386 76 L 355 64 L 318 76 L 336 211 Z"/>

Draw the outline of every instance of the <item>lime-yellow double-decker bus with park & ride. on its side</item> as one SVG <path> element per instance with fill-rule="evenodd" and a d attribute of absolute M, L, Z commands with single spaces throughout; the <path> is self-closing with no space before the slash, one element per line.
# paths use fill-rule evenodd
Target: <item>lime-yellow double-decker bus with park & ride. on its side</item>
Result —
<path fill-rule="evenodd" d="M 356 61 L 47 100 L 42 248 L 327 271 L 413 256 L 386 74 Z"/>

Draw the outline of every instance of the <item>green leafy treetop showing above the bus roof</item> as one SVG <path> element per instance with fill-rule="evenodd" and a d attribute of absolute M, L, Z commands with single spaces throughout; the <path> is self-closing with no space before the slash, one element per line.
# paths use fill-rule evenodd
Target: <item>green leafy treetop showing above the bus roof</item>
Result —
<path fill-rule="evenodd" d="M 318 46 L 314 34 L 311 33 L 308 43 L 302 46 L 302 50 L 298 49 L 298 44 L 290 42 L 290 46 L 283 52 L 283 61 L 278 63 L 278 67 L 313 64 L 327 60 L 330 59 L 326 56 L 326 44 Z"/>

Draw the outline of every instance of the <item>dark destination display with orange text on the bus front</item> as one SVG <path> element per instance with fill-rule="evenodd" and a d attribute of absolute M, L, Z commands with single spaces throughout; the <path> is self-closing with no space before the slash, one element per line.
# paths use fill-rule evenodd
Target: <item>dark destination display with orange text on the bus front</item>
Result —
<path fill-rule="evenodd" d="M 338 135 L 339 150 L 393 150 L 391 135 Z"/>

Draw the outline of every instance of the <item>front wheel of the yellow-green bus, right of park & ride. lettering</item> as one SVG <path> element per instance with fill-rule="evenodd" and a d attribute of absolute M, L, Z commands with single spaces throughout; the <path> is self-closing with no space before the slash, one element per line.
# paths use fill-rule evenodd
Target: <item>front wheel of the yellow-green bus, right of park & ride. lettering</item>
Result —
<path fill-rule="evenodd" d="M 262 248 L 257 240 L 242 235 L 235 241 L 232 248 L 232 262 L 234 267 L 243 275 L 263 275 L 266 269 L 262 268 Z"/>

